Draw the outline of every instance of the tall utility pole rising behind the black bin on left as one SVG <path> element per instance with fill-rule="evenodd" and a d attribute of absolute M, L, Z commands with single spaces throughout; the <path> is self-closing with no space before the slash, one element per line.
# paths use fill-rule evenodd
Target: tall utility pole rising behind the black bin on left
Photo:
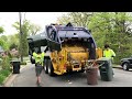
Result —
<path fill-rule="evenodd" d="M 22 14 L 19 12 L 19 19 L 20 19 L 20 54 L 21 54 L 21 62 L 23 62 L 23 48 L 22 48 L 22 25 L 21 25 L 21 20 L 22 20 Z"/>

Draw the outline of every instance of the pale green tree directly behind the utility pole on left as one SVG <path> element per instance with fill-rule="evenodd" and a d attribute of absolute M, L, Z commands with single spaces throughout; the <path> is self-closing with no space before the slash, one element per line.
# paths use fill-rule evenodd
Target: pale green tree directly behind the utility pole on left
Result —
<path fill-rule="evenodd" d="M 19 52 L 23 56 L 28 56 L 28 36 L 36 34 L 41 26 L 31 23 L 29 20 L 23 20 L 22 22 L 22 34 L 20 34 L 20 23 L 15 22 L 13 25 L 18 30 L 18 35 L 15 35 L 19 40 Z M 21 47 L 22 46 L 22 47 Z"/>

